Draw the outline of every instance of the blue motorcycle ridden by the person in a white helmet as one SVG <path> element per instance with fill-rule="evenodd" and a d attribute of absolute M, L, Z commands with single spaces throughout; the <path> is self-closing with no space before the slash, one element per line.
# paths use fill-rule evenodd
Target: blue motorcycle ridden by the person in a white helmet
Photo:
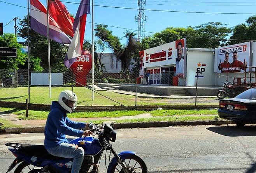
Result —
<path fill-rule="evenodd" d="M 98 173 L 103 151 L 110 150 L 114 157 L 107 168 L 107 173 L 147 173 L 144 161 L 136 156 L 135 152 L 123 151 L 119 154 L 112 148 L 111 142 L 116 141 L 116 131 L 109 124 L 100 129 L 93 123 L 89 129 L 98 135 L 98 138 L 87 136 L 70 141 L 85 151 L 84 160 L 79 173 Z M 16 157 L 6 173 L 15 166 L 14 173 L 70 173 L 73 159 L 55 157 L 47 152 L 44 145 L 29 145 L 21 143 L 6 143 L 9 150 Z M 110 156 L 109 156 L 110 160 Z M 106 157 L 105 157 L 106 162 Z"/>

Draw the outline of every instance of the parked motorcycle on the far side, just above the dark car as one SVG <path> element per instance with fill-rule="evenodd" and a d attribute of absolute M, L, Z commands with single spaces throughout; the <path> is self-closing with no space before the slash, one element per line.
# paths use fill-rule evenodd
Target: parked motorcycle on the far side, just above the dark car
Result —
<path fill-rule="evenodd" d="M 236 95 L 234 85 L 231 82 L 225 82 L 223 84 L 223 89 L 219 90 L 217 93 L 217 97 L 219 99 L 223 99 L 225 97 L 234 98 Z"/>

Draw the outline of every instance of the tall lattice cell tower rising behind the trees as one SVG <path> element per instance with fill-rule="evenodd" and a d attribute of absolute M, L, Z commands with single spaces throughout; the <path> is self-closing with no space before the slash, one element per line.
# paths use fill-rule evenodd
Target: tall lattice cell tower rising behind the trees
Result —
<path fill-rule="evenodd" d="M 147 21 L 147 16 L 144 15 L 144 6 L 146 5 L 146 0 L 138 0 L 139 14 L 135 16 L 135 21 L 139 23 L 138 26 L 138 42 L 141 38 L 145 37 L 145 21 Z"/>

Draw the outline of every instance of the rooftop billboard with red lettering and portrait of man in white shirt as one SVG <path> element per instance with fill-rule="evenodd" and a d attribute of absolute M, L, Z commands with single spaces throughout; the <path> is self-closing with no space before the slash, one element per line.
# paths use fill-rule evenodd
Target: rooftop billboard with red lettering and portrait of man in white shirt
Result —
<path fill-rule="evenodd" d="M 144 68 L 176 66 L 176 75 L 186 71 L 186 38 L 144 50 Z"/>

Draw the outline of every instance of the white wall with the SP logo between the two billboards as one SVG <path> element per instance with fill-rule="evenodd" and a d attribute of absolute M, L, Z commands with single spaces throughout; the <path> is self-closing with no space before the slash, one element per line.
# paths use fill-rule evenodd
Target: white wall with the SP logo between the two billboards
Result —
<path fill-rule="evenodd" d="M 198 63 L 201 66 L 198 66 Z M 206 66 L 202 66 L 206 64 Z M 196 68 L 205 68 L 205 72 L 198 75 L 203 75 L 203 78 L 198 78 L 198 86 L 215 86 L 216 73 L 214 73 L 214 49 L 189 49 L 187 50 L 187 75 L 186 86 L 196 86 Z M 180 79 L 180 84 L 182 85 Z"/>

